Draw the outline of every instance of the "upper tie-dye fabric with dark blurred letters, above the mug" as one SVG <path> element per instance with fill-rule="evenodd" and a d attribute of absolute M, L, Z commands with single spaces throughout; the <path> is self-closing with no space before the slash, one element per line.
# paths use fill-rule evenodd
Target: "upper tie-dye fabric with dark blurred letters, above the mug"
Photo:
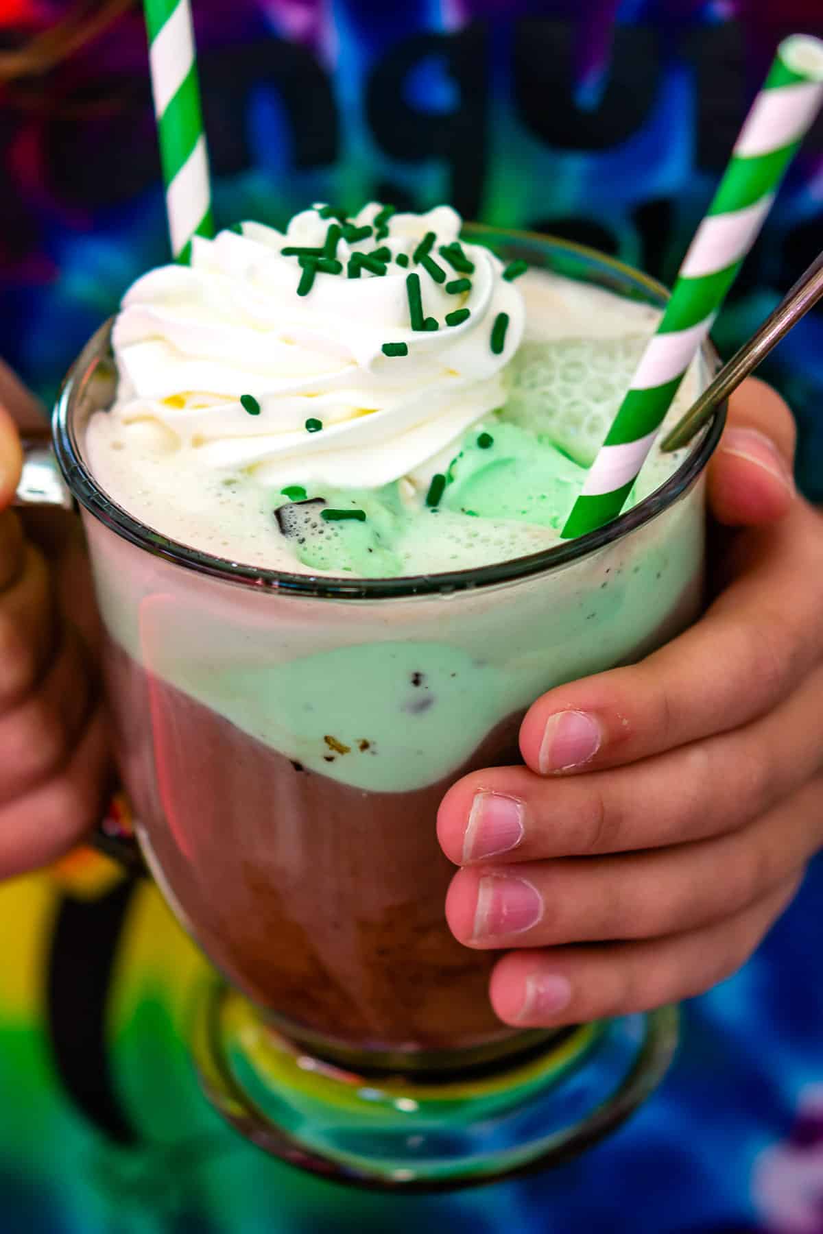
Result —
<path fill-rule="evenodd" d="M 102 4 L 102 0 L 100 0 Z M 94 6 L 91 6 L 94 7 Z M 122 7 L 122 5 L 121 5 Z M 7 42 L 73 5 L 5 0 Z M 450 200 L 670 280 L 780 37 L 821 0 L 196 0 L 220 223 L 307 201 Z M 123 288 L 167 257 L 137 6 L 0 94 L 0 354 L 49 396 Z M 821 244 L 823 121 L 716 328 L 732 348 Z M 823 315 L 771 374 L 823 495 Z"/>

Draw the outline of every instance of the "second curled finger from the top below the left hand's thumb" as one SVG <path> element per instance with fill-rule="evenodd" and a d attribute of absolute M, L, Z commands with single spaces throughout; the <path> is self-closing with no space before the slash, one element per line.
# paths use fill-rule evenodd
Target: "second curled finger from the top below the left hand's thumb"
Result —
<path fill-rule="evenodd" d="M 30 544 L 21 545 L 20 554 L 20 570 L 0 591 L 0 714 L 33 689 L 56 638 L 46 563 Z"/>

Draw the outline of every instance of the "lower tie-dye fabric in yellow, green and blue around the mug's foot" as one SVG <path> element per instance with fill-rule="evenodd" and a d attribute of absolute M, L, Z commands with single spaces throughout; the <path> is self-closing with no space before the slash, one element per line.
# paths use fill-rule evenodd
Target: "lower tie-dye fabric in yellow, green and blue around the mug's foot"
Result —
<path fill-rule="evenodd" d="M 96 854 L 0 887 L 2 1234 L 821 1234 L 823 866 L 753 960 L 685 1008 L 663 1088 L 556 1171 L 453 1196 L 343 1190 L 200 1097 L 204 975 L 159 893 Z"/>

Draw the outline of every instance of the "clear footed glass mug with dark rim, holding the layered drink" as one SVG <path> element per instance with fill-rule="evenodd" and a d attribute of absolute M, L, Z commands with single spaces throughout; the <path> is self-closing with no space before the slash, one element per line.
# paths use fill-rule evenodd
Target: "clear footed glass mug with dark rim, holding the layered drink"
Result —
<path fill-rule="evenodd" d="M 471 236 L 665 300 L 574 244 Z M 115 505 L 84 452 L 115 380 L 106 326 L 67 379 L 54 445 L 89 540 L 139 844 L 225 979 L 194 1025 L 207 1095 L 269 1151 L 375 1187 L 476 1183 L 580 1151 L 658 1083 L 675 1012 L 501 1024 L 495 955 L 445 924 L 454 871 L 436 812 L 468 770 L 518 761 L 543 691 L 635 660 L 697 616 L 702 476 L 723 413 L 602 531 L 480 569 L 345 580 L 211 557 Z"/>

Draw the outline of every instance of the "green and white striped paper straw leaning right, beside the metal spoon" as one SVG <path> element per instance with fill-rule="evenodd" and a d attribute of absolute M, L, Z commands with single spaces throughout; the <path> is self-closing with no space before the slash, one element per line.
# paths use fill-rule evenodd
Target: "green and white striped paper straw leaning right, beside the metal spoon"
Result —
<path fill-rule="evenodd" d="M 792 35 L 777 48 L 740 130 L 656 333 L 563 528 L 564 539 L 602 527 L 623 508 L 686 369 L 708 334 L 822 100 L 823 42 Z"/>

